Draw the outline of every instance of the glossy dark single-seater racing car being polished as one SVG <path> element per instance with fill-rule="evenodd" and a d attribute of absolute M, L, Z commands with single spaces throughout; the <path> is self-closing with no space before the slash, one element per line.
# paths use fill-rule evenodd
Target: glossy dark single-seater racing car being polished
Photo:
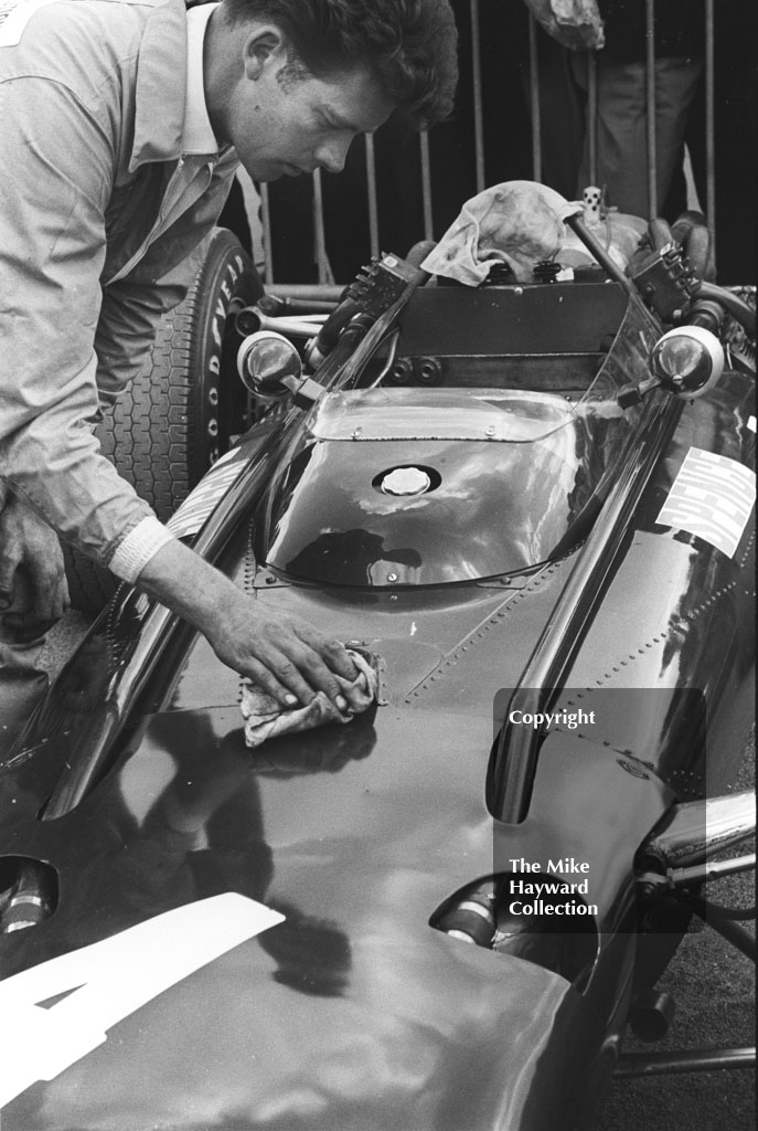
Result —
<path fill-rule="evenodd" d="M 573 278 L 226 295 L 244 423 L 173 529 L 376 700 L 249 749 L 115 593 L 0 769 L 3 1131 L 586 1129 L 691 916 L 755 960 L 704 893 L 755 865 L 755 311 L 568 223 Z"/>

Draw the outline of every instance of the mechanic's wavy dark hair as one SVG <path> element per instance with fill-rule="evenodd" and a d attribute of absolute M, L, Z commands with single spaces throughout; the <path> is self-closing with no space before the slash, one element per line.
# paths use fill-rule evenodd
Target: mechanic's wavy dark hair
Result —
<path fill-rule="evenodd" d="M 448 0 L 224 0 L 232 23 L 270 19 L 317 77 L 368 68 L 413 124 L 447 118 L 458 81 Z"/>

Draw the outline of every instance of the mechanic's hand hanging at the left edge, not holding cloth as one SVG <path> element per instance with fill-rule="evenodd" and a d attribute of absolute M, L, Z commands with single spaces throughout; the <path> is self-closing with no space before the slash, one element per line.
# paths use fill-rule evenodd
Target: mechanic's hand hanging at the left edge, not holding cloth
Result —
<path fill-rule="evenodd" d="M 58 535 L 27 503 L 1 487 L 0 616 L 3 625 L 23 644 L 46 632 L 68 606 L 69 588 Z"/>

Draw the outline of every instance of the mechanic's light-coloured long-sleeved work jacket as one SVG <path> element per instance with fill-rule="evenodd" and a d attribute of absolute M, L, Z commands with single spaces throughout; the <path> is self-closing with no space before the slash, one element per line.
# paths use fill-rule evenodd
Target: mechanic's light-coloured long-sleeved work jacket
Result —
<path fill-rule="evenodd" d="M 0 476 L 103 563 L 150 509 L 88 421 L 143 368 L 237 165 L 182 153 L 186 51 L 184 0 L 0 0 Z"/>

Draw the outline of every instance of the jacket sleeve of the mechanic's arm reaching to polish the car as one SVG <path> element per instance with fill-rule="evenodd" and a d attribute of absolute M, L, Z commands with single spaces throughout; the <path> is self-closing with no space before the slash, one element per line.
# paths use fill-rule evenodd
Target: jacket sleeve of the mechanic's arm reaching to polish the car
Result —
<path fill-rule="evenodd" d="M 0 475 L 107 563 L 150 513 L 99 454 L 95 335 L 115 157 L 63 84 L 0 85 Z"/>

